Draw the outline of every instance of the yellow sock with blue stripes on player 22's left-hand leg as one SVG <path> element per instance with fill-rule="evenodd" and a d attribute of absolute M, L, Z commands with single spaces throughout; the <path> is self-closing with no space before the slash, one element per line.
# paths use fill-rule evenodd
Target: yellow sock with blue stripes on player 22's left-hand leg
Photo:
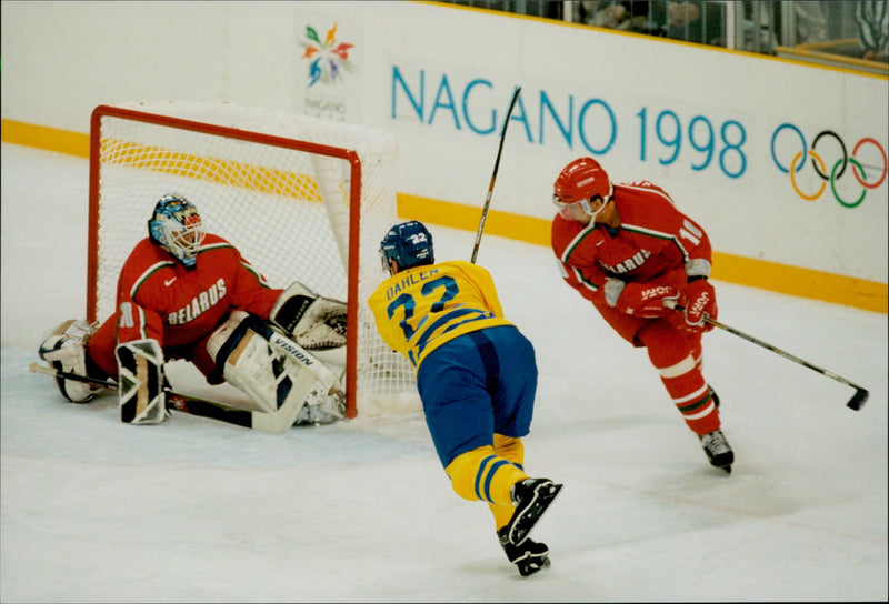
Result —
<path fill-rule="evenodd" d="M 508 506 L 510 510 L 510 489 L 528 477 L 510 460 L 496 454 L 490 445 L 458 455 L 444 472 L 450 476 L 455 492 L 465 500 L 486 501 L 497 507 Z"/>

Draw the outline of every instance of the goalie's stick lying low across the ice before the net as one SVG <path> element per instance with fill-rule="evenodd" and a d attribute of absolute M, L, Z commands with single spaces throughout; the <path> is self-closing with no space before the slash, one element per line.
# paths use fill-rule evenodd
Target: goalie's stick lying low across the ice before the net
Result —
<path fill-rule="evenodd" d="M 60 371 L 54 368 L 48 368 L 39 363 L 31 363 L 28 368 L 32 373 L 44 373 L 53 378 L 61 378 L 63 380 L 71 380 L 72 382 L 82 382 L 94 386 L 103 387 L 107 390 L 118 390 L 118 384 L 109 379 L 106 381 L 97 378 L 89 378 L 86 375 L 78 375 L 67 371 Z M 167 409 L 181 411 L 190 415 L 199 415 L 201 417 L 209 417 L 218 420 L 241 427 L 249 427 L 251 430 L 259 430 L 261 432 L 269 432 L 271 434 L 282 434 L 290 427 L 293 422 L 287 424 L 284 414 L 279 413 L 263 413 L 261 411 L 247 411 L 242 409 L 231 409 L 223 403 L 200 399 L 190 394 L 176 392 L 169 386 L 164 386 L 163 391 L 167 393 Z"/>

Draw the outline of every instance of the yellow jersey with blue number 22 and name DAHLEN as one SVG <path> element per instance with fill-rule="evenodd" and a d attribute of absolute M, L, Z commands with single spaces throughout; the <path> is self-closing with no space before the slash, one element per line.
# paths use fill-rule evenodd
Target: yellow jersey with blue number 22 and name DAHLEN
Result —
<path fill-rule="evenodd" d="M 511 325 L 491 274 L 463 260 L 414 266 L 390 276 L 368 299 L 377 330 L 414 369 L 458 335 Z"/>

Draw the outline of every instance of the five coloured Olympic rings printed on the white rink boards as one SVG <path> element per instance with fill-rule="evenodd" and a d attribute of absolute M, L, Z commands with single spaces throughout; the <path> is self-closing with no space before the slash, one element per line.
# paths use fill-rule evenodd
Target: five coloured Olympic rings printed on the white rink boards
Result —
<path fill-rule="evenodd" d="M 775 143 L 778 139 L 778 134 L 781 133 L 783 130 L 790 130 L 796 132 L 800 140 L 800 151 L 798 151 L 793 159 L 790 160 L 789 165 L 782 165 L 781 162 L 778 160 L 778 155 L 776 154 Z M 825 163 L 823 158 L 816 151 L 818 143 L 823 139 L 833 139 L 841 150 L 841 157 L 837 159 L 833 163 L 832 168 L 828 170 L 827 164 Z M 863 163 L 859 161 L 858 155 L 859 151 L 863 147 L 873 147 L 879 152 L 880 157 L 882 158 L 882 169 L 880 172 L 880 177 L 875 179 L 876 173 L 878 172 L 878 165 L 872 165 L 868 163 Z M 815 192 L 807 193 L 800 189 L 800 184 L 797 182 L 798 178 L 797 174 L 803 169 L 806 165 L 806 161 L 811 155 L 811 165 L 815 170 L 818 178 L 821 179 L 820 185 L 815 190 Z M 783 172 L 785 174 L 790 175 L 790 184 L 793 187 L 793 191 L 797 192 L 799 197 L 805 199 L 806 201 L 815 201 L 821 197 L 821 194 L 827 189 L 828 183 L 830 184 L 830 191 L 833 193 L 833 198 L 846 208 L 855 208 L 859 205 L 862 201 L 865 201 L 865 197 L 869 189 L 876 189 L 886 180 L 887 172 L 889 172 L 889 161 L 886 157 L 886 149 L 876 140 L 870 137 L 863 138 L 858 141 L 855 147 L 852 148 L 852 154 L 850 155 L 846 149 L 846 143 L 843 140 L 833 132 L 832 130 L 822 130 L 812 140 L 812 145 L 807 148 L 806 145 L 806 137 L 802 135 L 802 132 L 799 128 L 791 123 L 782 123 L 779 125 L 775 133 L 771 137 L 771 159 L 775 161 L 775 164 L 778 169 Z M 840 197 L 839 191 L 837 191 L 837 181 L 846 174 L 847 168 L 851 164 L 851 169 L 849 172 L 855 177 L 858 183 L 861 185 L 861 194 L 858 199 L 848 201 Z M 867 171 L 865 170 L 867 168 Z M 867 174 L 870 174 L 870 179 L 868 179 Z"/>

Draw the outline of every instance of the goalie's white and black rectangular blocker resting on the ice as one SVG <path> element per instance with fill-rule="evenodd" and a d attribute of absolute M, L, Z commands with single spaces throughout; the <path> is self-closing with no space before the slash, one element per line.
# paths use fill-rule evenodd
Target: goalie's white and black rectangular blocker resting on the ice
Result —
<path fill-rule="evenodd" d="M 157 340 L 134 340 L 114 349 L 118 359 L 120 421 L 159 424 L 167 416 L 163 351 Z"/>

